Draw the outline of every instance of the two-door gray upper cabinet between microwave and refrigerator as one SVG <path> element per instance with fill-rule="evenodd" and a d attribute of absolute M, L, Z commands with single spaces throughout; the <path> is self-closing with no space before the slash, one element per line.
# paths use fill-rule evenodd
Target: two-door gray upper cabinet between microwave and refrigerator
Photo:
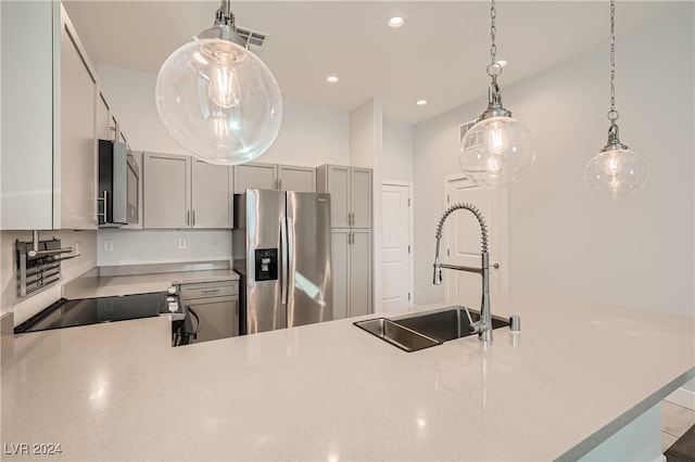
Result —
<path fill-rule="evenodd" d="M 143 221 L 148 229 L 230 229 L 230 167 L 144 153 Z"/>

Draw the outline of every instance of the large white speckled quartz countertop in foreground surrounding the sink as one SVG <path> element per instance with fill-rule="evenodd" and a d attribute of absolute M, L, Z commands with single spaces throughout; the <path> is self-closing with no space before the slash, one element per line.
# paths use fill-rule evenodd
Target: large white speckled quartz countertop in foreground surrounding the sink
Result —
<path fill-rule="evenodd" d="M 166 318 L 5 336 L 2 444 L 60 444 L 50 460 L 577 459 L 695 374 L 693 318 L 538 294 L 492 309 L 521 333 L 409 354 L 355 319 L 179 348 Z"/>

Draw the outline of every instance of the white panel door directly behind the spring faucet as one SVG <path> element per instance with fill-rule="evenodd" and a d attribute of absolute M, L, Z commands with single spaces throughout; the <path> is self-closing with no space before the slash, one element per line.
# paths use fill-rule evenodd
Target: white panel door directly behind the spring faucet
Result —
<path fill-rule="evenodd" d="M 490 254 L 490 292 L 506 291 L 507 284 L 507 201 L 506 190 L 488 190 L 476 187 L 470 180 L 452 179 L 447 182 L 447 203 L 476 206 L 482 214 L 489 230 L 488 252 Z M 446 220 L 442 236 L 440 260 L 451 265 L 480 268 L 481 229 L 476 216 L 460 209 Z M 498 266 L 495 268 L 495 265 Z M 442 270 L 446 288 L 446 301 L 464 304 L 479 309 L 482 297 L 480 274 Z"/>

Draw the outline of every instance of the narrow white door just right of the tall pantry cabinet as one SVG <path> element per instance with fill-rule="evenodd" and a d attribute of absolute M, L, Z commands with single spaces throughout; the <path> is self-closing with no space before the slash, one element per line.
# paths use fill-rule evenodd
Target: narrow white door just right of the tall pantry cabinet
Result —
<path fill-rule="evenodd" d="M 381 307 L 410 306 L 410 188 L 381 189 Z"/>

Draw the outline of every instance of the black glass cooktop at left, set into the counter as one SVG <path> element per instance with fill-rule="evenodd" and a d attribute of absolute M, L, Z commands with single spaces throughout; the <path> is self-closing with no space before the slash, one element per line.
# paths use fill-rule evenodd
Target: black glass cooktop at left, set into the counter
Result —
<path fill-rule="evenodd" d="M 17 325 L 14 333 L 155 317 L 167 310 L 166 296 L 166 292 L 153 292 L 73 300 L 61 298 Z"/>

